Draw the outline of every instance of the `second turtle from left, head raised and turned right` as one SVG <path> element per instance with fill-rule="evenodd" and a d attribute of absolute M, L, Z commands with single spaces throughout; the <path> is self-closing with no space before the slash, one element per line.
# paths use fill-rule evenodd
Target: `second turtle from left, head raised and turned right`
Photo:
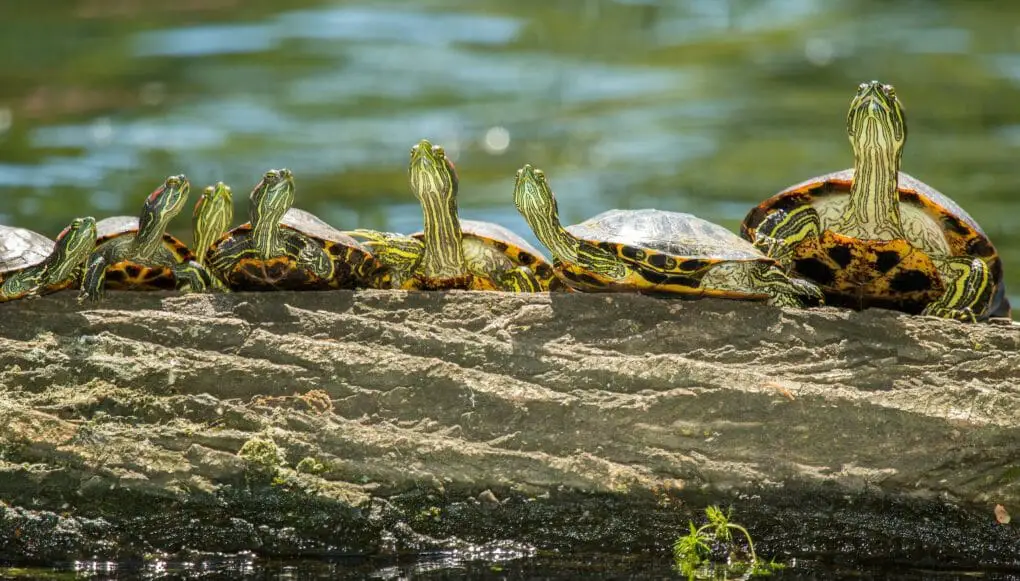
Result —
<path fill-rule="evenodd" d="M 137 218 L 113 216 L 96 224 L 98 239 L 86 263 L 80 303 L 102 300 L 106 288 L 201 292 L 212 285 L 211 274 L 191 249 L 166 232 L 190 191 L 187 176 L 170 175 L 145 199 Z"/>

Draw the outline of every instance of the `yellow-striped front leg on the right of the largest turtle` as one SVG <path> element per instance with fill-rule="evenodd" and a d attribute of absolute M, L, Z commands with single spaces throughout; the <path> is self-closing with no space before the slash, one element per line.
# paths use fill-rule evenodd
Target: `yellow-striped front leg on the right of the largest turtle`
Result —
<path fill-rule="evenodd" d="M 946 292 L 921 311 L 922 315 L 977 322 L 991 302 L 992 283 L 988 265 L 980 258 L 933 259 Z"/>

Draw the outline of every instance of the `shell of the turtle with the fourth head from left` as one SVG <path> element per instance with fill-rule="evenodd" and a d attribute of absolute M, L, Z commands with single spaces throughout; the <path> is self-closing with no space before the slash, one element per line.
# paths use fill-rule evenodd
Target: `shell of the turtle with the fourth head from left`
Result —
<path fill-rule="evenodd" d="M 333 259 L 334 274 L 322 278 L 301 266 L 296 253 L 264 260 L 251 247 L 252 225 L 245 222 L 230 230 L 208 250 L 206 264 L 237 290 L 315 290 L 328 288 L 389 287 L 389 269 L 353 237 L 330 226 L 319 217 L 291 208 L 284 214 L 280 227 L 297 232 L 318 245 Z M 217 267 L 216 257 L 234 257 L 230 268 Z"/>

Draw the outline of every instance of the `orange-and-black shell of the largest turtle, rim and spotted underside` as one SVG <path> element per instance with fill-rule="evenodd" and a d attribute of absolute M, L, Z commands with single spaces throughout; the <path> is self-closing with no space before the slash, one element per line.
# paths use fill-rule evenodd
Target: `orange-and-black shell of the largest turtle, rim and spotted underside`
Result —
<path fill-rule="evenodd" d="M 752 241 L 755 228 L 770 213 L 849 198 L 854 169 L 845 169 L 792 186 L 753 208 L 741 224 L 741 235 Z M 992 280 L 985 317 L 1009 317 L 1010 304 L 1003 280 L 1003 263 L 981 226 L 951 198 L 904 172 L 899 173 L 904 228 L 936 224 L 951 256 L 984 260 Z M 853 309 L 881 307 L 918 314 L 940 297 L 945 283 L 934 262 L 908 241 L 865 241 L 823 231 L 825 256 L 797 255 L 794 270 L 817 283 L 826 304 Z"/>

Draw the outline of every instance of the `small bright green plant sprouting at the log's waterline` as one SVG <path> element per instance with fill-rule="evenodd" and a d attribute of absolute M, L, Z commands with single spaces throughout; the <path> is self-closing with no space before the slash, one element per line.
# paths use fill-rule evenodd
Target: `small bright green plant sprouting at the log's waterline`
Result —
<path fill-rule="evenodd" d="M 698 527 L 688 521 L 690 532 L 673 541 L 673 567 L 688 580 L 725 578 L 728 574 L 748 577 L 768 576 L 784 566 L 774 561 L 763 562 L 755 552 L 751 533 L 743 526 L 730 522 L 730 511 L 725 513 L 716 506 L 705 509 L 708 522 Z M 733 534 L 738 536 L 734 538 Z M 741 545 L 741 538 L 747 549 Z M 725 550 L 725 563 L 713 562 L 713 549 Z M 720 577 L 721 575 L 721 577 Z"/>

